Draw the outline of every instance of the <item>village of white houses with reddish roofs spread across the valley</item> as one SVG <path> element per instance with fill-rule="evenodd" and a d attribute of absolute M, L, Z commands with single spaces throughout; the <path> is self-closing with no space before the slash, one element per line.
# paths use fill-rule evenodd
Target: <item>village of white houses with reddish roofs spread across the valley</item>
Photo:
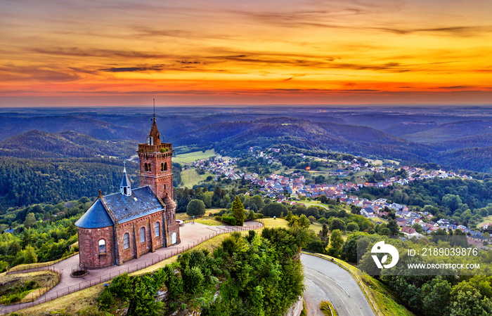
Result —
<path fill-rule="evenodd" d="M 276 151 L 276 148 L 270 148 L 272 151 Z M 303 157 L 304 154 L 301 155 Z M 270 157 L 263 152 L 255 155 L 255 157 L 263 157 L 268 159 L 268 164 L 273 164 L 276 161 L 275 158 Z M 305 156 L 303 157 L 305 158 Z M 326 158 L 326 157 L 323 157 Z M 206 163 L 207 162 L 207 163 Z M 468 236 L 468 242 L 474 244 L 479 248 L 484 247 L 484 242 L 488 240 L 483 236 L 482 232 L 472 230 L 464 225 L 455 225 L 447 219 L 440 219 L 436 222 L 431 219 L 434 217 L 427 211 L 411 211 L 406 205 L 388 203 L 387 199 L 375 199 L 369 200 L 351 195 L 351 192 L 356 192 L 361 187 L 389 187 L 394 184 L 408 185 L 414 181 L 427 180 L 433 178 L 467 178 L 471 179 L 471 176 L 460 175 L 455 172 L 446 172 L 444 170 L 425 170 L 422 168 L 408 167 L 408 166 L 372 166 L 371 164 L 361 164 L 356 159 L 352 161 L 343 160 L 339 162 L 342 165 L 348 167 L 349 171 L 361 172 L 379 172 L 384 173 L 385 170 L 396 171 L 403 169 L 406 171 L 407 177 L 393 176 L 386 178 L 383 181 L 377 183 L 351 183 L 340 182 L 334 184 L 311 184 L 302 173 L 291 173 L 288 176 L 278 175 L 271 173 L 266 178 L 260 177 L 257 173 L 245 173 L 236 171 L 236 159 L 224 159 L 220 155 L 216 155 L 214 159 L 199 159 L 192 162 L 192 166 L 199 169 L 205 169 L 209 173 L 215 175 L 216 179 L 221 176 L 222 178 L 230 178 L 232 180 L 239 180 L 244 178 L 254 185 L 261 187 L 259 190 L 262 197 L 276 200 L 278 203 L 288 204 L 303 204 L 302 200 L 306 199 L 318 199 L 321 196 L 328 197 L 328 199 L 334 199 L 339 202 L 354 204 L 361 207 L 361 215 L 366 218 L 387 218 L 388 211 L 385 209 L 394 210 L 396 213 L 395 220 L 401 228 L 401 232 L 408 238 L 423 237 L 424 235 L 430 235 L 436 230 L 461 230 Z M 349 171 L 344 169 L 337 169 L 330 173 L 332 176 L 344 177 L 347 176 Z M 309 170 L 309 169 L 308 169 Z M 382 222 L 377 222 L 382 223 Z M 418 224 L 422 228 L 422 233 L 417 232 L 412 226 Z"/>

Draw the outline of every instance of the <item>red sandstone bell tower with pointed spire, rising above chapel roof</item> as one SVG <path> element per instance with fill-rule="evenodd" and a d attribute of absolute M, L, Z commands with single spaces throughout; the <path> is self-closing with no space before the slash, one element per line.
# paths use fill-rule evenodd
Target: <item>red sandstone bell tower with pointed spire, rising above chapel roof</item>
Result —
<path fill-rule="evenodd" d="M 173 199 L 173 180 L 171 157 L 173 153 L 171 143 L 162 143 L 160 133 L 155 124 L 155 111 L 152 129 L 147 143 L 138 144 L 138 158 L 140 158 L 140 185 L 149 185 L 157 197 L 164 200 L 166 195 Z"/>

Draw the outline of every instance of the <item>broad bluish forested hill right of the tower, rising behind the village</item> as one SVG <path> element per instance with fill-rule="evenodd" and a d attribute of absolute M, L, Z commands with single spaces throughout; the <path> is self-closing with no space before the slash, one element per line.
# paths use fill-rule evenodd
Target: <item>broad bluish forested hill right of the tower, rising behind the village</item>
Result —
<path fill-rule="evenodd" d="M 171 141 L 175 146 L 207 146 L 214 143 L 216 151 L 231 154 L 252 146 L 274 147 L 288 144 L 309 150 L 325 150 L 376 155 L 408 162 L 426 161 L 435 151 L 427 145 L 410 143 L 366 126 L 334 124 L 278 117 L 250 122 L 218 123 L 189 133 L 182 133 Z"/>

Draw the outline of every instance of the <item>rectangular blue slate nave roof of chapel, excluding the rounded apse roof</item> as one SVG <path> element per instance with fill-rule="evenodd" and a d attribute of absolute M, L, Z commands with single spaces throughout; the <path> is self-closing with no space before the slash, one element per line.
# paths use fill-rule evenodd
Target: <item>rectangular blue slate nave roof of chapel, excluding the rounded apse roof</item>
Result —
<path fill-rule="evenodd" d="M 148 185 L 131 190 L 129 197 L 121 193 L 115 193 L 106 195 L 104 199 L 119 223 L 124 223 L 164 209 L 164 206 L 160 204 Z"/>

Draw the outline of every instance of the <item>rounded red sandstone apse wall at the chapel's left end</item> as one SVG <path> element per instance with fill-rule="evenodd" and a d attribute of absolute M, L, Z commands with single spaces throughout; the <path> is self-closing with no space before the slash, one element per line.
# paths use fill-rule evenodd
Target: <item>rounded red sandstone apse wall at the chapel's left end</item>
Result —
<path fill-rule="evenodd" d="M 115 264 L 113 228 L 77 228 L 79 233 L 80 263 L 88 269 L 106 268 Z M 105 239 L 106 252 L 99 253 L 99 240 Z"/>

